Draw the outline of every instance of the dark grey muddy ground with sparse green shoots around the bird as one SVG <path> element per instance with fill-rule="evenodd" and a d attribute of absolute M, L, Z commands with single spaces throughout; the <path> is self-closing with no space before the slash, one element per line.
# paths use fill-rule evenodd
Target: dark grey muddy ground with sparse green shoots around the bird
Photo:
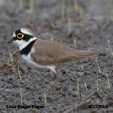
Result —
<path fill-rule="evenodd" d="M 18 49 L 7 42 L 13 32 L 21 27 L 30 28 L 40 39 L 80 50 L 106 53 L 106 56 L 82 59 L 58 67 L 60 81 L 49 92 L 47 89 L 55 80 L 50 70 L 28 68 L 29 65 L 22 58 L 18 62 L 26 73 L 18 71 L 16 67 L 13 70 L 9 70 L 6 65 L 0 67 L 0 113 L 113 112 L 113 53 L 108 51 L 113 48 L 113 1 L 110 3 L 110 0 L 94 0 L 94 3 L 91 3 L 91 0 L 79 0 L 78 11 L 74 8 L 73 1 L 65 2 L 64 20 L 61 18 L 61 0 L 34 0 L 33 12 L 29 1 L 24 1 L 23 5 L 21 0 L 0 1 L 0 66 L 10 52 Z M 19 72 L 22 80 L 19 78 Z M 97 95 L 90 97 L 93 92 L 97 92 L 103 101 Z M 84 101 L 87 96 L 88 102 Z M 23 106 L 44 107 L 7 108 L 10 105 L 20 105 L 21 102 Z M 86 106 L 80 106 L 84 102 Z M 108 105 L 108 108 L 89 108 L 89 105 Z"/>

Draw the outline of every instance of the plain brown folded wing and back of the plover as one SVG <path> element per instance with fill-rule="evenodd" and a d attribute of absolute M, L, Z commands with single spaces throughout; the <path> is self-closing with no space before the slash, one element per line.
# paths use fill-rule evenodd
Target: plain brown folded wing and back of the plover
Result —
<path fill-rule="evenodd" d="M 41 65 L 66 63 L 99 54 L 97 52 L 79 51 L 56 42 L 41 39 L 38 39 L 34 46 L 35 53 L 32 53 L 31 56 L 35 62 Z"/>

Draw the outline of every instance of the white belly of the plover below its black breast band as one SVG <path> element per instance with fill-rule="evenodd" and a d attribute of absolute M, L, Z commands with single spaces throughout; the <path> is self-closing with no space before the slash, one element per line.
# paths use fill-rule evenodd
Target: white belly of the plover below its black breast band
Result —
<path fill-rule="evenodd" d="M 29 64 L 31 64 L 32 66 L 35 66 L 37 68 L 45 68 L 45 69 L 50 69 L 52 70 L 54 73 L 56 73 L 55 71 L 55 66 L 44 66 L 44 65 L 40 65 L 38 63 L 35 63 L 32 58 L 31 58 L 31 55 L 28 54 L 28 55 L 22 55 L 22 58 L 28 62 Z"/>

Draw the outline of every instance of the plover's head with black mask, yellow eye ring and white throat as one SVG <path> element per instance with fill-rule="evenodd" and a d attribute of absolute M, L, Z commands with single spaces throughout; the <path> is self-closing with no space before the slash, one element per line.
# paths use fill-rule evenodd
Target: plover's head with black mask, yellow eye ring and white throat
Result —
<path fill-rule="evenodd" d="M 9 41 L 9 43 L 13 43 L 21 50 L 36 39 L 36 36 L 30 29 L 20 28 L 13 33 L 12 39 Z"/>

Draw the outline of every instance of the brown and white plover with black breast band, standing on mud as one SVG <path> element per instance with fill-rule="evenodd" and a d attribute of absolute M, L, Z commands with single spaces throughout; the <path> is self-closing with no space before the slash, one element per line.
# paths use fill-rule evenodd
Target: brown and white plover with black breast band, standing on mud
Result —
<path fill-rule="evenodd" d="M 56 72 L 58 65 L 92 56 L 105 55 L 104 52 L 82 51 L 57 42 L 38 39 L 28 28 L 17 29 L 9 43 L 13 43 L 19 48 L 22 58 L 30 65 L 49 69 L 56 75 L 55 81 L 48 90 L 52 89 L 59 80 Z"/>

